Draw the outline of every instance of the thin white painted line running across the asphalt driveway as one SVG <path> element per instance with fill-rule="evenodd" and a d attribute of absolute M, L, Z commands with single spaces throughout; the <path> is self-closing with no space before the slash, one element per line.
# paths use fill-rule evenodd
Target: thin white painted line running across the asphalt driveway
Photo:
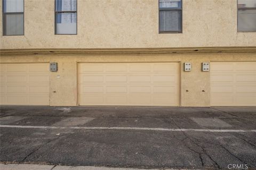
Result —
<path fill-rule="evenodd" d="M 18 125 L 0 125 L 0 128 L 145 130 L 145 131 L 193 131 L 193 132 L 256 132 L 256 130 L 237 130 L 237 129 L 169 129 L 169 128 L 136 128 L 136 127 L 20 126 L 20 125 L 19 126 Z"/>

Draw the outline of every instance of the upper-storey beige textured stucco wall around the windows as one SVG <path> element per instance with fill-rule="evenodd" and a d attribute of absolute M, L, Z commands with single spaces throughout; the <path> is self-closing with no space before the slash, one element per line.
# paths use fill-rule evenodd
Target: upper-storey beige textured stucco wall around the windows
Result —
<path fill-rule="evenodd" d="M 1 48 L 256 46 L 256 32 L 237 32 L 236 0 L 183 0 L 183 33 L 164 34 L 157 0 L 77 4 L 77 35 L 54 35 L 54 0 L 25 0 L 25 36 L 2 36 L 1 11 Z"/>

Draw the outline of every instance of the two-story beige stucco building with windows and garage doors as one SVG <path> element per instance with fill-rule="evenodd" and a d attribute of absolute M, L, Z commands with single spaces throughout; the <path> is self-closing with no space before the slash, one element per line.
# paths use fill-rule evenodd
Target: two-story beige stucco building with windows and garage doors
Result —
<path fill-rule="evenodd" d="M 1 105 L 256 106 L 256 0 L 3 0 Z"/>

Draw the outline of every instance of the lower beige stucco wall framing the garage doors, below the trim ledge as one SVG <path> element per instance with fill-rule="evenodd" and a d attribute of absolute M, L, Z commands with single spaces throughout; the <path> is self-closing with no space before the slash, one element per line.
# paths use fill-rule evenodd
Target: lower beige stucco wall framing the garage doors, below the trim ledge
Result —
<path fill-rule="evenodd" d="M 214 61 L 256 61 L 256 54 L 1 56 L 0 60 L 1 63 L 57 62 L 58 72 L 50 72 L 51 106 L 77 105 L 77 63 L 79 62 L 180 62 L 180 106 L 210 106 L 210 72 L 201 71 L 201 62 Z M 184 62 L 191 62 L 191 72 L 183 72 Z"/>

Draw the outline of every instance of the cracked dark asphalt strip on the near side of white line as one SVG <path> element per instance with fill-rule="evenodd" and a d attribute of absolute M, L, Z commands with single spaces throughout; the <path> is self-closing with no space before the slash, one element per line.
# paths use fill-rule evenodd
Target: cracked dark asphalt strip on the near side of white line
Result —
<path fill-rule="evenodd" d="M 158 168 L 225 168 L 234 163 L 255 168 L 256 139 L 250 133 L 55 129 L 37 130 L 45 135 L 34 132 L 1 129 L 1 161 Z"/>

